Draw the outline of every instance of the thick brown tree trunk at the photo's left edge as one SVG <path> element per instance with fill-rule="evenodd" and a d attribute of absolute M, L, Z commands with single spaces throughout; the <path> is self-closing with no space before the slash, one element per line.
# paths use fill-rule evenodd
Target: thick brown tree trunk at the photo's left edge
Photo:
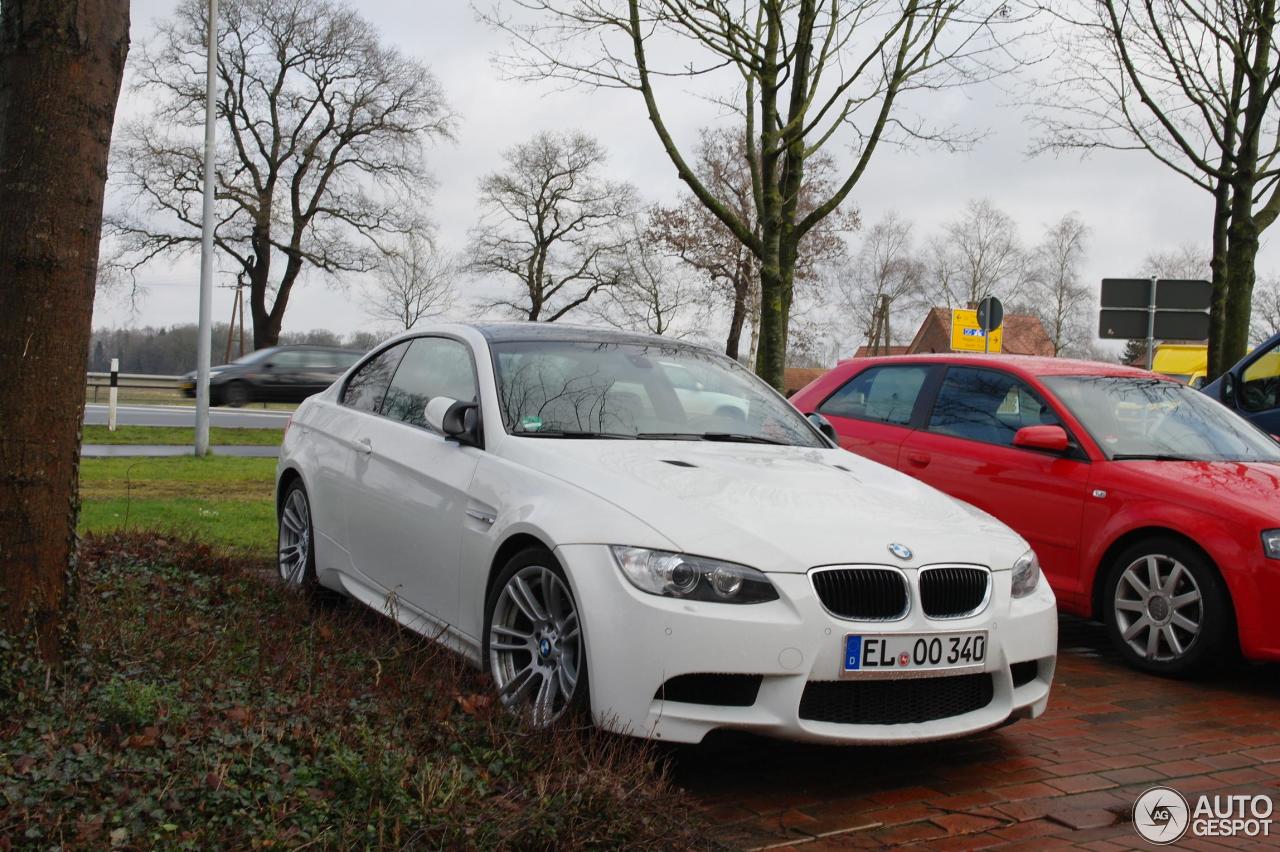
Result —
<path fill-rule="evenodd" d="M 79 432 L 128 0 L 0 5 L 0 626 L 74 635 Z"/>

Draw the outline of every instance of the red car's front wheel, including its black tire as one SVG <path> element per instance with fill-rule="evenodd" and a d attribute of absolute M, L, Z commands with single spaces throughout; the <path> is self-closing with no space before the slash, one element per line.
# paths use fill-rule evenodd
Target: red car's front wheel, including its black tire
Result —
<path fill-rule="evenodd" d="M 1102 605 L 1112 645 L 1135 669 L 1183 678 L 1234 658 L 1235 618 L 1222 577 L 1172 536 L 1126 548 L 1111 564 Z"/>

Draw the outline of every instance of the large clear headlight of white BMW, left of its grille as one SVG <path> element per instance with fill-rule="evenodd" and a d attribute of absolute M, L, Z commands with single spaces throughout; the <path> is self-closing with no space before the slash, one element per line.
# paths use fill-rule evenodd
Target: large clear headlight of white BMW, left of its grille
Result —
<path fill-rule="evenodd" d="M 666 550 L 620 545 L 609 550 L 631 585 L 650 595 L 722 604 L 759 604 L 778 599 L 773 583 L 755 568 Z"/>

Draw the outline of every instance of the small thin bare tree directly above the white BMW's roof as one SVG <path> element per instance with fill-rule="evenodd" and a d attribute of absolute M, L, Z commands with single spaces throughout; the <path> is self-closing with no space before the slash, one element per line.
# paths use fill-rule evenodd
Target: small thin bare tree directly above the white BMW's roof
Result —
<path fill-rule="evenodd" d="M 685 338 L 703 331 L 707 285 L 659 251 L 657 241 L 632 225 L 622 249 L 621 275 L 593 311 L 617 329 Z"/>

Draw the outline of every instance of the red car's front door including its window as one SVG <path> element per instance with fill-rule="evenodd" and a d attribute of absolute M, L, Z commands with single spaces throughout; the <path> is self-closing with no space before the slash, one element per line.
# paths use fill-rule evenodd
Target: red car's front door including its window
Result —
<path fill-rule="evenodd" d="M 1062 454 L 1014 446 L 1023 426 L 1060 422 L 1016 376 L 948 367 L 924 429 L 902 444 L 899 468 L 1016 530 L 1053 590 L 1074 596 L 1088 459 L 1074 441 Z"/>

